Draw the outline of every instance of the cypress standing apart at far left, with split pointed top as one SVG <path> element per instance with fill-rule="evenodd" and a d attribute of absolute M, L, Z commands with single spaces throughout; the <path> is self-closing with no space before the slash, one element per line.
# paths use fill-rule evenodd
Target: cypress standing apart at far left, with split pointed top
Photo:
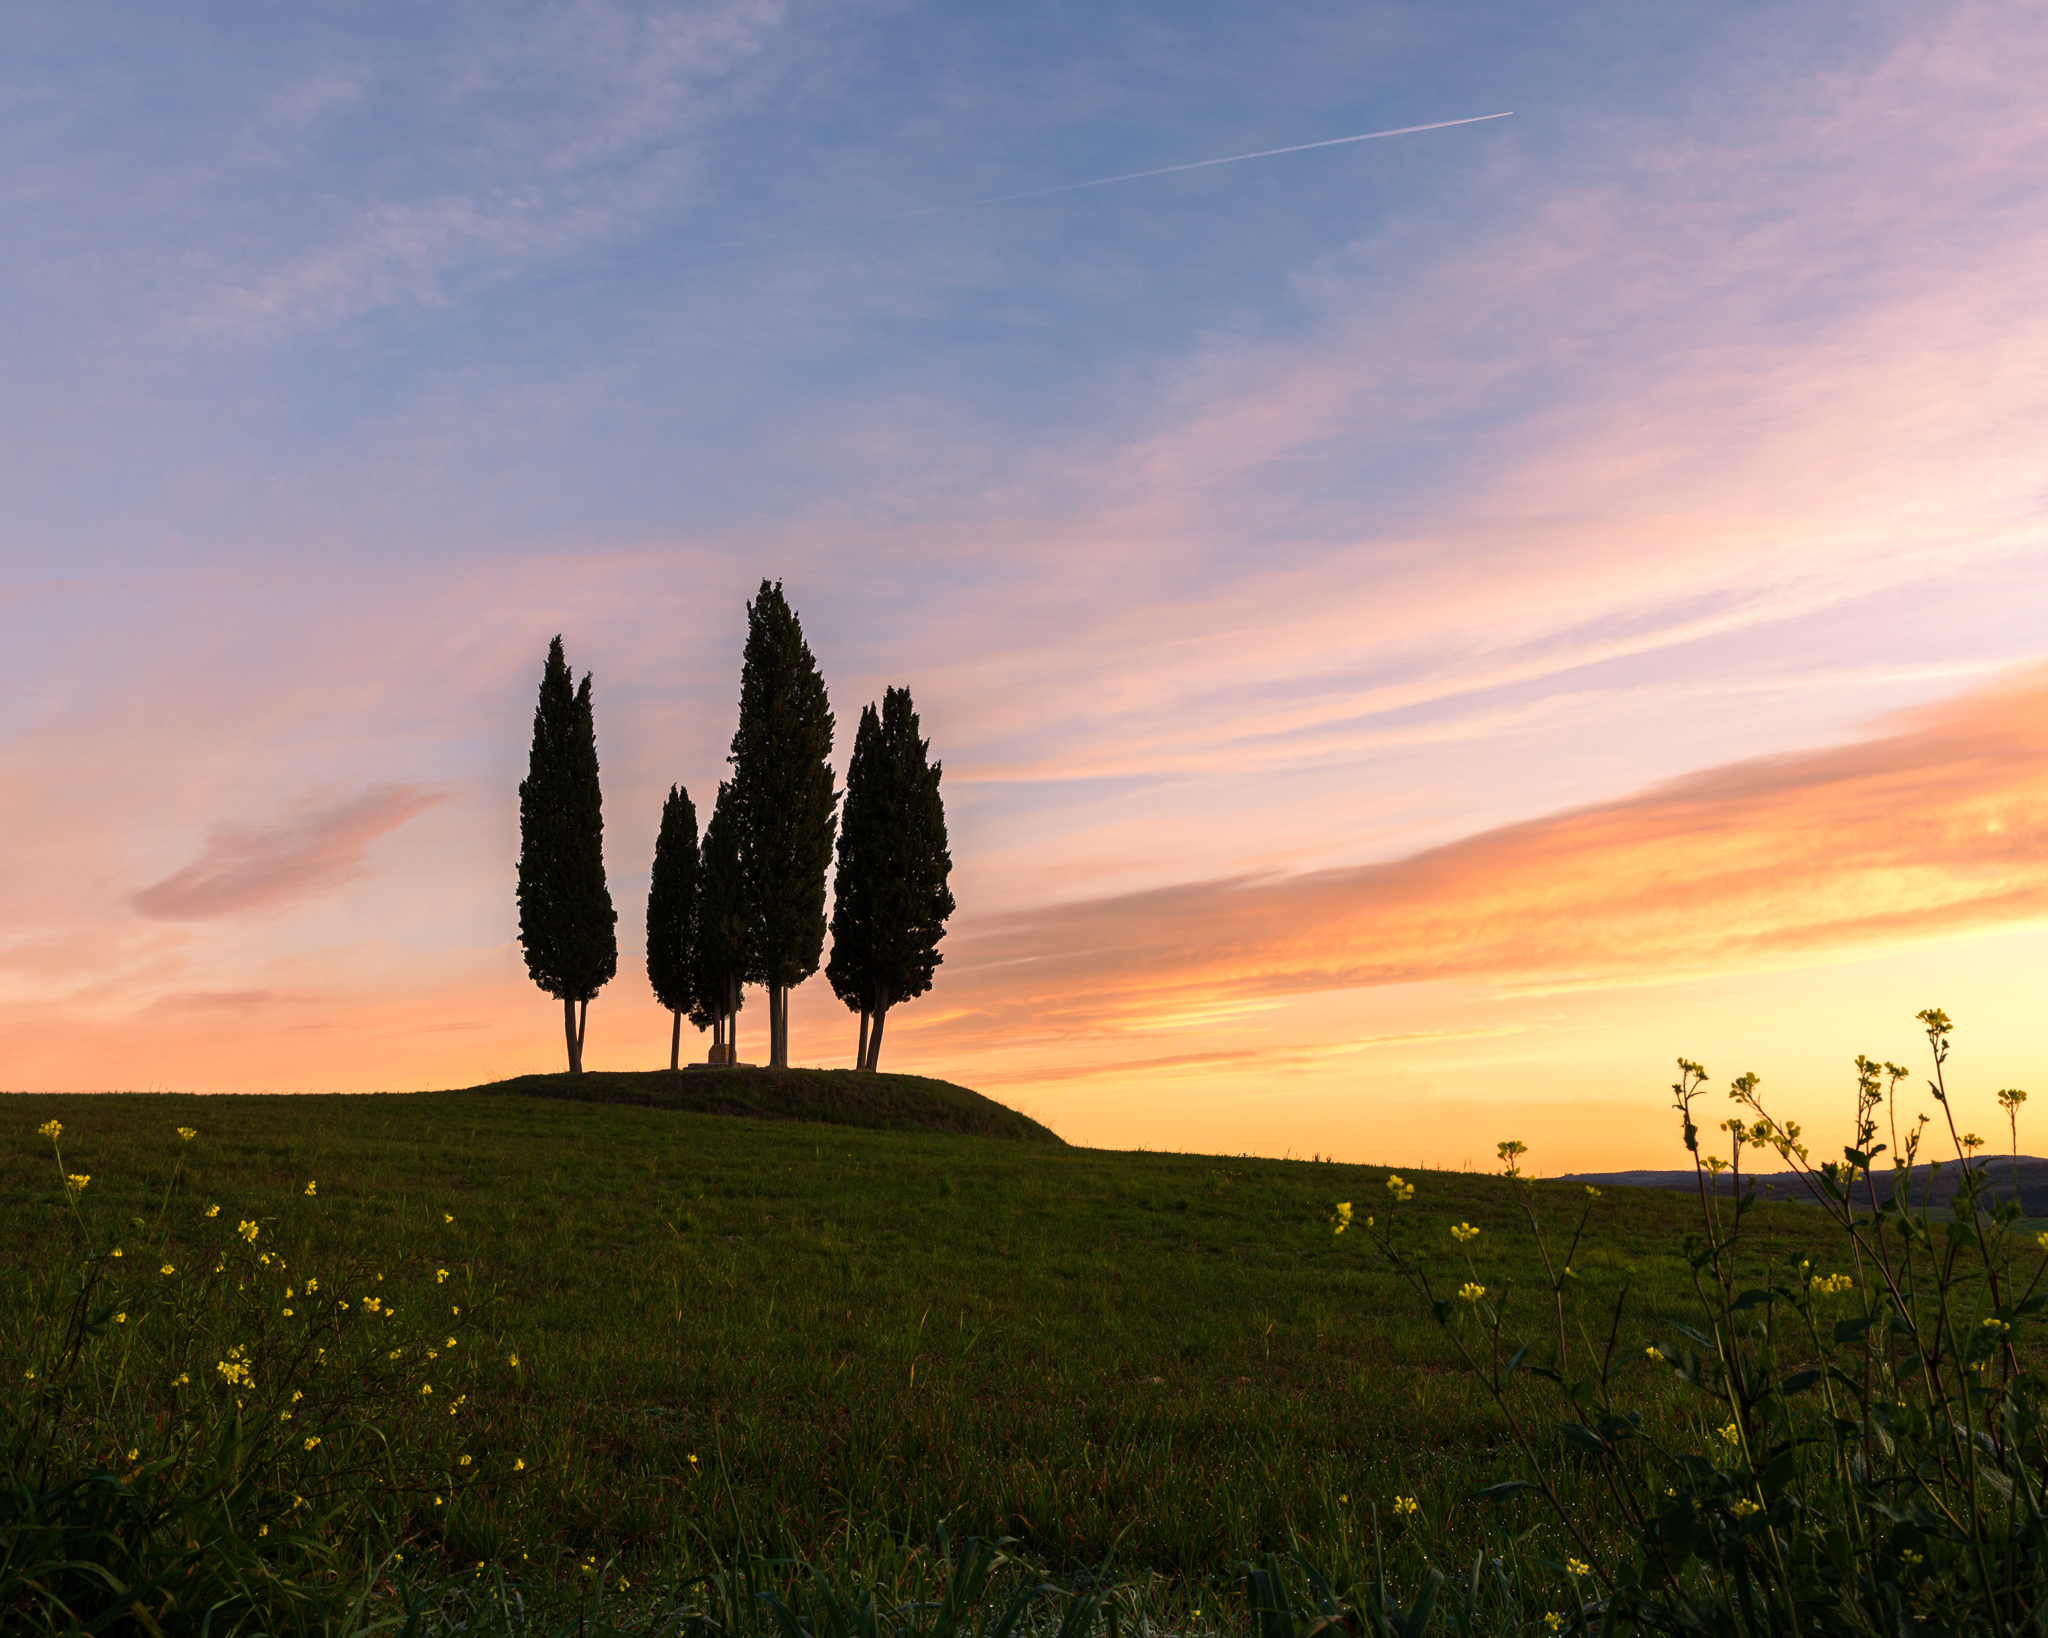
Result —
<path fill-rule="evenodd" d="M 590 674 L 569 688 L 561 637 L 547 647 L 532 753 L 518 788 L 518 940 L 526 973 L 561 1001 L 569 1073 L 584 1073 L 590 999 L 618 971 L 618 913 L 604 885 L 604 799 Z"/>

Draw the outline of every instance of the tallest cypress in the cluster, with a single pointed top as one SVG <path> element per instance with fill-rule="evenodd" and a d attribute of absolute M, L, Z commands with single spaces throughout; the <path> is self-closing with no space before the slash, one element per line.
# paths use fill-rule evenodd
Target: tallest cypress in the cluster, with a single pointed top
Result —
<path fill-rule="evenodd" d="M 829 758 L 825 680 L 782 584 L 764 579 L 748 604 L 731 764 L 752 977 L 768 987 L 772 1069 L 788 1067 L 788 991 L 825 952 L 825 870 L 838 823 Z"/>

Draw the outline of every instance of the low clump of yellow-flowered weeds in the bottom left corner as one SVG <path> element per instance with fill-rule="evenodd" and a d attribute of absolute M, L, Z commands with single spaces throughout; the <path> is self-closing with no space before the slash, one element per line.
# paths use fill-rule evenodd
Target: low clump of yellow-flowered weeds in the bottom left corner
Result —
<path fill-rule="evenodd" d="M 391 1544 L 444 1542 L 518 1468 L 471 1435 L 479 1378 L 512 1366 L 463 1347 L 446 1267 L 317 1255 L 315 1179 L 293 1210 L 244 1214 L 174 1165 L 154 1214 L 121 1216 L 66 1167 L 59 1120 L 39 1136 L 61 1253 L 12 1312 L 0 1620 L 324 1624 L 362 1603 Z"/>

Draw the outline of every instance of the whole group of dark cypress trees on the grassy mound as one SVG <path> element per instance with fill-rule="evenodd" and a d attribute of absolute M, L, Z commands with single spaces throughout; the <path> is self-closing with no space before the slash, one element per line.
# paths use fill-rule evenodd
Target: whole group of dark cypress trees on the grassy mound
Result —
<path fill-rule="evenodd" d="M 713 1032 L 713 1063 L 737 1063 L 743 987 L 768 989 L 768 1063 L 788 1067 L 788 991 L 825 950 L 825 870 L 838 839 L 831 962 L 825 977 L 860 1014 L 858 1067 L 881 1061 L 883 1022 L 932 987 L 952 915 L 940 766 L 918 737 L 909 690 L 889 688 L 860 715 L 846 774 L 844 823 L 831 788 L 834 717 L 825 680 L 782 586 L 748 604 L 733 776 L 696 829 L 696 807 L 670 786 L 647 891 L 647 981 L 672 1014 L 668 1063 L 680 1067 L 682 1020 Z M 604 885 L 590 676 L 569 686 L 557 637 L 541 676 L 532 758 L 520 784 L 520 944 L 532 981 L 563 1003 L 569 1071 L 584 1067 L 590 999 L 618 968 L 618 915 Z"/>

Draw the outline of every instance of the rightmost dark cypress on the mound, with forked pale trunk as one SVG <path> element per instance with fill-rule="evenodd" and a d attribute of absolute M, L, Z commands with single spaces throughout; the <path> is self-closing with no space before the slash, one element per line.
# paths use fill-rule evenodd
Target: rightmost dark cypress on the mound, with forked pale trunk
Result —
<path fill-rule="evenodd" d="M 825 973 L 834 993 L 860 1014 L 860 1069 L 868 1071 L 881 1065 L 889 1007 L 932 987 L 944 960 L 938 942 L 954 909 L 938 792 L 944 768 L 930 749 L 918 735 L 909 690 L 891 688 L 881 713 L 868 706 L 860 715 L 846 772 Z"/>

